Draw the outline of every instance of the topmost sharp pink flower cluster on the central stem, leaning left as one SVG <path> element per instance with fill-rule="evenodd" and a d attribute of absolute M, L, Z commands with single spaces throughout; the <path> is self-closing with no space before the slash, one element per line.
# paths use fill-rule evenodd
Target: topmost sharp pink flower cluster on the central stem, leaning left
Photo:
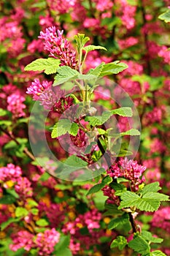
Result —
<path fill-rule="evenodd" d="M 61 60 L 61 66 L 66 65 L 76 69 L 76 52 L 71 48 L 70 42 L 63 39 L 63 31 L 56 31 L 55 26 L 46 29 L 45 33 L 40 32 L 40 39 L 44 39 L 44 49 L 51 57 Z"/>

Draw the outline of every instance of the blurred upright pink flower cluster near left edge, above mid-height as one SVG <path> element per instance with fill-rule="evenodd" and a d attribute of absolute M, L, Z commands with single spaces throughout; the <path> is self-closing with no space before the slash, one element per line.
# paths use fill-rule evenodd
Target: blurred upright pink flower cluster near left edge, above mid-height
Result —
<path fill-rule="evenodd" d="M 23 112 L 26 105 L 23 104 L 25 97 L 23 97 L 19 92 L 13 93 L 7 97 L 7 110 L 11 111 L 13 116 L 12 118 L 19 118 L 26 116 Z"/>

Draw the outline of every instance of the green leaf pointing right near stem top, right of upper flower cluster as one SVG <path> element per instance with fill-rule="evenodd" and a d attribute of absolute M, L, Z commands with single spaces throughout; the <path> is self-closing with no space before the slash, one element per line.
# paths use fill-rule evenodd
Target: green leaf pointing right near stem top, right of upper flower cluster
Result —
<path fill-rule="evenodd" d="M 105 64 L 101 71 L 100 78 L 104 77 L 105 75 L 118 74 L 127 68 L 128 65 L 120 61 L 114 61 L 112 63 Z"/>

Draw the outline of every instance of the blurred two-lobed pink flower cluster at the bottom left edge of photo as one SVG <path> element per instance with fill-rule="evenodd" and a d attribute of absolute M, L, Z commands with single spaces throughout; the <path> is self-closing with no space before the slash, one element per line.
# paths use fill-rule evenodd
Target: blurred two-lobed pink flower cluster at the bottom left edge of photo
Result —
<path fill-rule="evenodd" d="M 55 228 L 45 230 L 44 233 L 38 233 L 36 236 L 28 231 L 20 230 L 18 233 L 12 234 L 13 244 L 10 245 L 10 249 L 16 252 L 20 248 L 26 251 L 35 248 L 38 249 L 38 255 L 51 255 L 59 239 L 60 233 Z"/>

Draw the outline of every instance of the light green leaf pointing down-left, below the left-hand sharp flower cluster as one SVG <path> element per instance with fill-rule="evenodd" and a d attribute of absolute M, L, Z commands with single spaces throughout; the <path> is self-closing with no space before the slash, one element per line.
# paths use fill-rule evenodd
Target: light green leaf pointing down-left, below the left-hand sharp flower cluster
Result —
<path fill-rule="evenodd" d="M 59 121 L 53 126 L 53 131 L 51 133 L 51 138 L 58 138 L 61 135 L 65 135 L 69 132 L 72 124 L 69 119 L 59 119 Z"/>

